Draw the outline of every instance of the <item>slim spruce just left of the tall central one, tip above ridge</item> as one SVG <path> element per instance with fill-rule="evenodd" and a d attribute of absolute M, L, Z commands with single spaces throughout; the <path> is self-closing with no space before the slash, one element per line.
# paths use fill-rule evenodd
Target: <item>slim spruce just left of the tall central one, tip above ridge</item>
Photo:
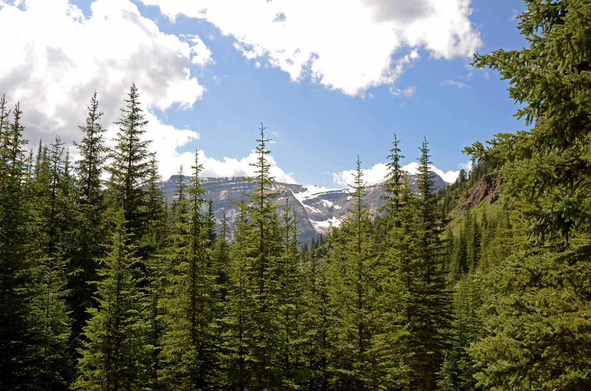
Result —
<path fill-rule="evenodd" d="M 211 267 L 207 220 L 203 209 L 203 188 L 197 153 L 189 180 L 188 198 L 181 200 L 187 210 L 173 238 L 170 258 L 176 265 L 164 301 L 167 331 L 162 338 L 161 385 L 169 390 L 208 390 L 216 382 L 217 341 L 212 327 L 216 315 L 213 298 L 215 275 Z"/>

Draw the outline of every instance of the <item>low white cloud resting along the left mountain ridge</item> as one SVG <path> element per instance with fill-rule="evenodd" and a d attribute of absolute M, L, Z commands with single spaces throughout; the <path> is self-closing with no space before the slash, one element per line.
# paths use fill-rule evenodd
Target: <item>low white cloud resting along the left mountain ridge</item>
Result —
<path fill-rule="evenodd" d="M 223 161 L 207 157 L 203 150 L 197 152 L 199 153 L 199 162 L 203 165 L 203 171 L 201 173 L 202 177 L 253 177 L 256 175 L 255 168 L 249 165 L 256 162 L 258 155 L 255 152 L 251 152 L 250 155 L 241 159 L 225 157 L 223 158 Z M 194 161 L 195 157 L 193 152 L 183 152 L 182 154 L 177 153 L 174 156 L 176 167 L 168 168 L 168 172 L 178 172 L 178 168 L 182 164 L 185 174 L 190 174 L 190 167 L 191 165 L 194 165 Z M 271 176 L 275 177 L 275 181 L 282 183 L 296 183 L 293 173 L 281 170 L 272 156 L 267 156 L 267 162 L 271 165 L 269 170 Z"/>

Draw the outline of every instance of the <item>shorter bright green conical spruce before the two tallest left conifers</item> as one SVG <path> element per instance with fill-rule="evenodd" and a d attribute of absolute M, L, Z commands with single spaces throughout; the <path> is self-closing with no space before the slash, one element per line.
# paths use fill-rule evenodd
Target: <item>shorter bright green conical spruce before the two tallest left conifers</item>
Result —
<path fill-rule="evenodd" d="M 98 308 L 89 308 L 84 328 L 80 376 L 74 383 L 81 390 L 138 390 L 147 383 L 145 361 L 151 346 L 146 344 L 148 325 L 143 299 L 132 275 L 133 247 L 129 246 L 124 211 L 116 215 L 109 251 L 97 285 Z"/>

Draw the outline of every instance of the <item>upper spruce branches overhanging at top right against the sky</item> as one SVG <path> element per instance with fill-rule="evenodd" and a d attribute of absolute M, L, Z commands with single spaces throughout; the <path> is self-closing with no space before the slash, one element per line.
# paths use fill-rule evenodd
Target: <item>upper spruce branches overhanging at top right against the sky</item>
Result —
<path fill-rule="evenodd" d="M 567 240 L 589 229 L 591 4 L 583 0 L 528 1 L 519 29 L 529 47 L 475 56 L 475 65 L 499 70 L 517 113 L 531 131 L 499 133 L 485 147 L 465 151 L 503 167 L 505 193 L 522 212 L 534 239 Z"/>

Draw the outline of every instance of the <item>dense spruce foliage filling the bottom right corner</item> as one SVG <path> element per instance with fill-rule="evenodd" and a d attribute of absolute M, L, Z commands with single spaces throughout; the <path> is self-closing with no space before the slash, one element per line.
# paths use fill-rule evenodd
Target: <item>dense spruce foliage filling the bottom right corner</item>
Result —
<path fill-rule="evenodd" d="M 589 247 L 528 251 L 494 268 L 482 308 L 485 337 L 469 349 L 483 389 L 591 386 Z M 494 284 L 492 284 L 494 281 Z"/>

